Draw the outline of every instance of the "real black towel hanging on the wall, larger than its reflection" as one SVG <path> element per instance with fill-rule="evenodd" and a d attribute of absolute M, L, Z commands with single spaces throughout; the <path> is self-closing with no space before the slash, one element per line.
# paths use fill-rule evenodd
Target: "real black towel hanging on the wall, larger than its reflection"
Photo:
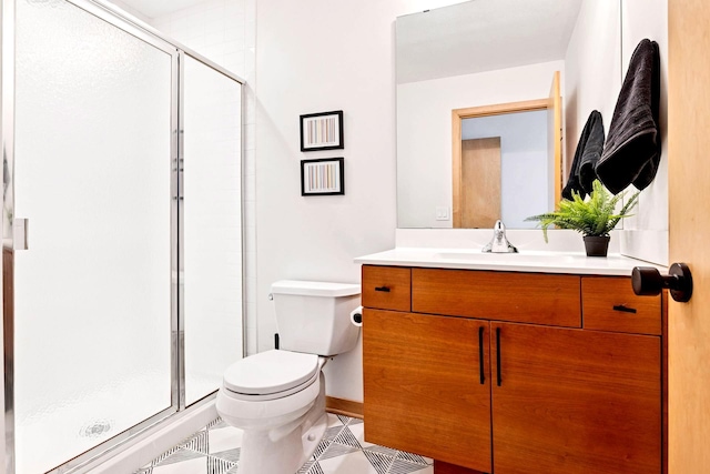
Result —
<path fill-rule="evenodd" d="M 660 82 L 658 43 L 645 39 L 631 56 L 596 168 L 599 180 L 613 194 L 631 183 L 643 190 L 656 178 L 661 159 Z"/>

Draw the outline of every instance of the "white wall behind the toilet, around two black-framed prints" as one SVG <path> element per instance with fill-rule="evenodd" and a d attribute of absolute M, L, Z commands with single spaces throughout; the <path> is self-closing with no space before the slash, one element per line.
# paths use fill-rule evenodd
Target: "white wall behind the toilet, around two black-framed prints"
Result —
<path fill-rule="evenodd" d="M 353 259 L 395 243 L 394 21 L 455 1 L 258 0 L 258 350 L 273 347 L 280 279 L 359 282 Z M 344 111 L 345 149 L 302 153 L 298 115 Z M 345 158 L 345 195 L 302 198 L 300 160 Z M 331 396 L 362 401 L 362 350 L 325 369 Z"/>

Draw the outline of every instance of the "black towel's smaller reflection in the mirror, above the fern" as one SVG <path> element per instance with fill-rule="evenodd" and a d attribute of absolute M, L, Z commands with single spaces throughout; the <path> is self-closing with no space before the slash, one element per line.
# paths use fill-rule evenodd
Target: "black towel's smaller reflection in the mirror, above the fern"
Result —
<path fill-rule="evenodd" d="M 585 128 L 577 143 L 575 159 L 569 170 L 567 185 L 562 190 L 562 198 L 572 199 L 572 191 L 581 198 L 591 193 L 591 183 L 597 179 L 595 167 L 601 157 L 604 149 L 604 122 L 601 113 L 592 110 L 585 123 Z"/>

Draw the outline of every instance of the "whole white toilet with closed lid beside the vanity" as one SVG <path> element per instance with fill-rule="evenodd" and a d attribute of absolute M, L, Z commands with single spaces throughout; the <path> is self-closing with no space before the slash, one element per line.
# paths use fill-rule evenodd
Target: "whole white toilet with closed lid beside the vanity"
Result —
<path fill-rule="evenodd" d="M 240 474 L 294 474 L 308 461 L 327 427 L 322 369 L 359 335 L 358 284 L 283 280 L 271 293 L 280 349 L 227 367 L 216 399 L 222 420 L 243 430 Z"/>

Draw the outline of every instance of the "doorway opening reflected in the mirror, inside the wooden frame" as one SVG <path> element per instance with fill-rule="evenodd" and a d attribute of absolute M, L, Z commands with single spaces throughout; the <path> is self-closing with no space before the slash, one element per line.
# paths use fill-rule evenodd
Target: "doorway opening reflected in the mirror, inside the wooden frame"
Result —
<path fill-rule="evenodd" d="M 462 121 L 454 228 L 491 229 L 500 219 L 511 229 L 532 229 L 525 219 L 554 208 L 547 119 L 541 109 Z"/>

